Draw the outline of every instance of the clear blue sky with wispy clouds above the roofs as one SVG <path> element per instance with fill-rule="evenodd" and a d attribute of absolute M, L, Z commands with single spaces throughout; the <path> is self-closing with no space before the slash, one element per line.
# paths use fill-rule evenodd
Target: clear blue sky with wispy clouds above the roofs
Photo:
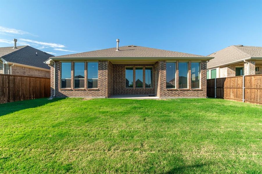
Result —
<path fill-rule="evenodd" d="M 138 45 L 208 55 L 262 46 L 262 1 L 0 1 L 0 46 L 54 55 Z M 63 51 L 64 50 L 64 51 Z M 67 50 L 67 51 L 65 51 Z"/>

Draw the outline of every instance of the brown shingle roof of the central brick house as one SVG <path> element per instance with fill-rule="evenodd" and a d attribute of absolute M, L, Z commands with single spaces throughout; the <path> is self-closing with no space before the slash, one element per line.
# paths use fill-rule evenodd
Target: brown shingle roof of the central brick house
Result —
<path fill-rule="evenodd" d="M 108 48 L 104 50 L 81 52 L 56 57 L 205 57 L 183 52 L 160 50 L 142 46 L 121 46 L 119 47 L 119 51 L 115 50 L 116 48 Z"/>

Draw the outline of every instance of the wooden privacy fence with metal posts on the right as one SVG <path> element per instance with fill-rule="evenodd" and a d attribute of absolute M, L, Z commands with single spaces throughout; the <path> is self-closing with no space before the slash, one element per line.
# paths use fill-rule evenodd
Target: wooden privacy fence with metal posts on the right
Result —
<path fill-rule="evenodd" d="M 208 79 L 207 97 L 262 105 L 262 74 Z"/>

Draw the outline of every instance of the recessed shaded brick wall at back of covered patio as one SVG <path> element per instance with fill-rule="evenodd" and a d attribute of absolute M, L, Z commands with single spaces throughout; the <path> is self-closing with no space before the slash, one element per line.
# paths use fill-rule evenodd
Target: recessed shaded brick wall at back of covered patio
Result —
<path fill-rule="evenodd" d="M 125 67 L 133 67 L 133 81 L 135 82 L 135 67 L 153 67 L 153 84 L 155 79 L 155 70 L 153 64 L 113 64 L 113 95 L 154 95 L 155 86 L 153 88 L 145 88 L 145 77 L 143 77 L 143 88 L 126 88 Z"/>

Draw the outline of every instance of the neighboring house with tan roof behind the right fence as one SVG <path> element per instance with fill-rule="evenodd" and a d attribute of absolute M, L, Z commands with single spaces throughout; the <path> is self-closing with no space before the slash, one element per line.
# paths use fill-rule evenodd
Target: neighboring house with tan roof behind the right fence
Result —
<path fill-rule="evenodd" d="M 262 74 L 262 47 L 232 45 L 210 57 L 207 79 Z"/>

